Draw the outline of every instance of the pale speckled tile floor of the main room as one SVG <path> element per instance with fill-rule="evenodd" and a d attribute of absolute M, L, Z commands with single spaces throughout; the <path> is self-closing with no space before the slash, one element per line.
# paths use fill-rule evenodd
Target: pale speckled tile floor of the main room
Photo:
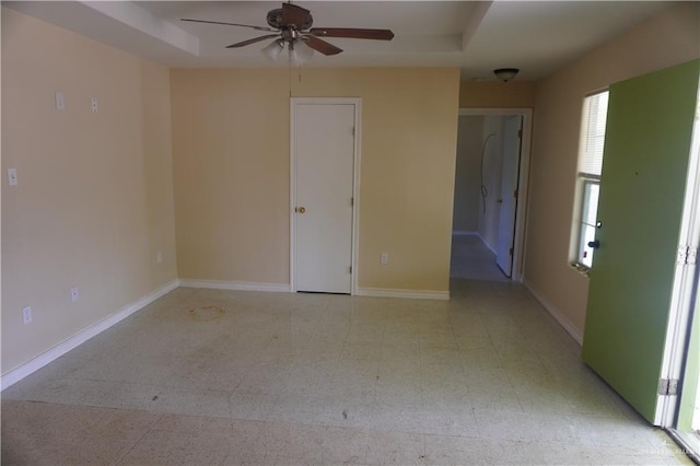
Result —
<path fill-rule="evenodd" d="M 520 286 L 177 289 L 2 393 L 2 464 L 689 464 Z"/>

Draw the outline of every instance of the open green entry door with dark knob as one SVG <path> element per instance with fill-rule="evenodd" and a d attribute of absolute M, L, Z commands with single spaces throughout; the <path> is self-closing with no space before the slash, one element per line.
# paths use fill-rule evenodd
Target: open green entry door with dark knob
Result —
<path fill-rule="evenodd" d="M 699 69 L 695 60 L 610 86 L 583 360 L 652 423 Z"/>

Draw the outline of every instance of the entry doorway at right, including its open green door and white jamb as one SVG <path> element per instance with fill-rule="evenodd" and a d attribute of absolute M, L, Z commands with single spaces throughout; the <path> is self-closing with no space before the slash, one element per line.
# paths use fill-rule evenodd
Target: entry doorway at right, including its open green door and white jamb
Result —
<path fill-rule="evenodd" d="M 699 428 L 699 77 L 693 60 L 609 88 L 582 348 L 588 366 L 689 451 Z"/>

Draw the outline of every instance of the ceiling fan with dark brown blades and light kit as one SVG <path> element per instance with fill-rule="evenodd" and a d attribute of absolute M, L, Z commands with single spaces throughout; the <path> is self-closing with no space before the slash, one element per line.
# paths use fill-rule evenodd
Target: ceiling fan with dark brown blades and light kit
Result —
<path fill-rule="evenodd" d="M 273 38 L 275 40 L 262 49 L 262 54 L 272 60 L 277 59 L 284 48 L 289 50 L 290 58 L 299 61 L 305 61 L 311 58 L 314 50 L 319 51 L 323 55 L 336 55 L 342 51 L 341 48 L 338 48 L 319 37 L 362 38 L 374 40 L 392 40 L 392 38 L 394 38 L 394 33 L 389 30 L 312 27 L 314 24 L 314 18 L 312 16 L 311 11 L 292 3 L 282 3 L 282 8 L 268 11 L 267 24 L 269 24 L 269 27 L 225 23 L 221 21 L 191 20 L 186 18 L 183 18 L 182 21 L 249 27 L 256 31 L 273 33 L 226 46 L 226 48 L 245 47 L 246 45 Z"/>

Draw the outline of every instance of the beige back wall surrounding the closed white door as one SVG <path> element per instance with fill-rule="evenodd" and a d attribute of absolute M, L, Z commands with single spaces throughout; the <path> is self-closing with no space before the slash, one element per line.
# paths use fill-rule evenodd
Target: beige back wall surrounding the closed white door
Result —
<path fill-rule="evenodd" d="M 179 277 L 289 283 L 290 85 L 362 98 L 359 287 L 447 291 L 456 69 L 173 70 Z"/>

